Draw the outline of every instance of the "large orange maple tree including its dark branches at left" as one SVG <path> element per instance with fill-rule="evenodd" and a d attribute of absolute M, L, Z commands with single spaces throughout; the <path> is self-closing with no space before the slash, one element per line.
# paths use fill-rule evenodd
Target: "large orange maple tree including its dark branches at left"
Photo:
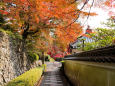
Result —
<path fill-rule="evenodd" d="M 81 2 L 84 5 L 79 9 L 77 6 Z M 10 22 L 18 27 L 14 28 L 14 31 L 22 35 L 23 45 L 26 40 L 34 40 L 37 37 L 39 49 L 47 47 L 49 41 L 43 39 L 48 39 L 51 29 L 54 29 L 57 46 L 62 46 L 61 50 L 66 51 L 68 44 L 82 33 L 82 26 L 76 22 L 79 16 L 96 15 L 82 11 L 88 0 L 2 0 L 2 3 L 7 3 L 2 8 L 8 12 Z M 47 36 L 42 37 L 41 33 L 44 31 Z"/>

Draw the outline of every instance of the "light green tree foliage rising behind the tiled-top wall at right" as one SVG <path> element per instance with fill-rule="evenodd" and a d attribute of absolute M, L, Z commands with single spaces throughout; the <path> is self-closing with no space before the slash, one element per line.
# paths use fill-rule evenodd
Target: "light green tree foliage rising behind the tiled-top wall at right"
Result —
<path fill-rule="evenodd" d="M 89 34 L 93 39 L 93 42 L 84 43 L 84 50 L 92 50 L 96 48 L 101 48 L 105 46 L 110 46 L 113 44 L 113 40 L 115 40 L 115 22 L 114 19 L 108 19 L 107 23 L 104 23 L 109 29 L 107 28 L 97 28 L 95 33 Z M 76 45 L 78 50 L 82 49 L 82 44 L 79 43 Z"/>

